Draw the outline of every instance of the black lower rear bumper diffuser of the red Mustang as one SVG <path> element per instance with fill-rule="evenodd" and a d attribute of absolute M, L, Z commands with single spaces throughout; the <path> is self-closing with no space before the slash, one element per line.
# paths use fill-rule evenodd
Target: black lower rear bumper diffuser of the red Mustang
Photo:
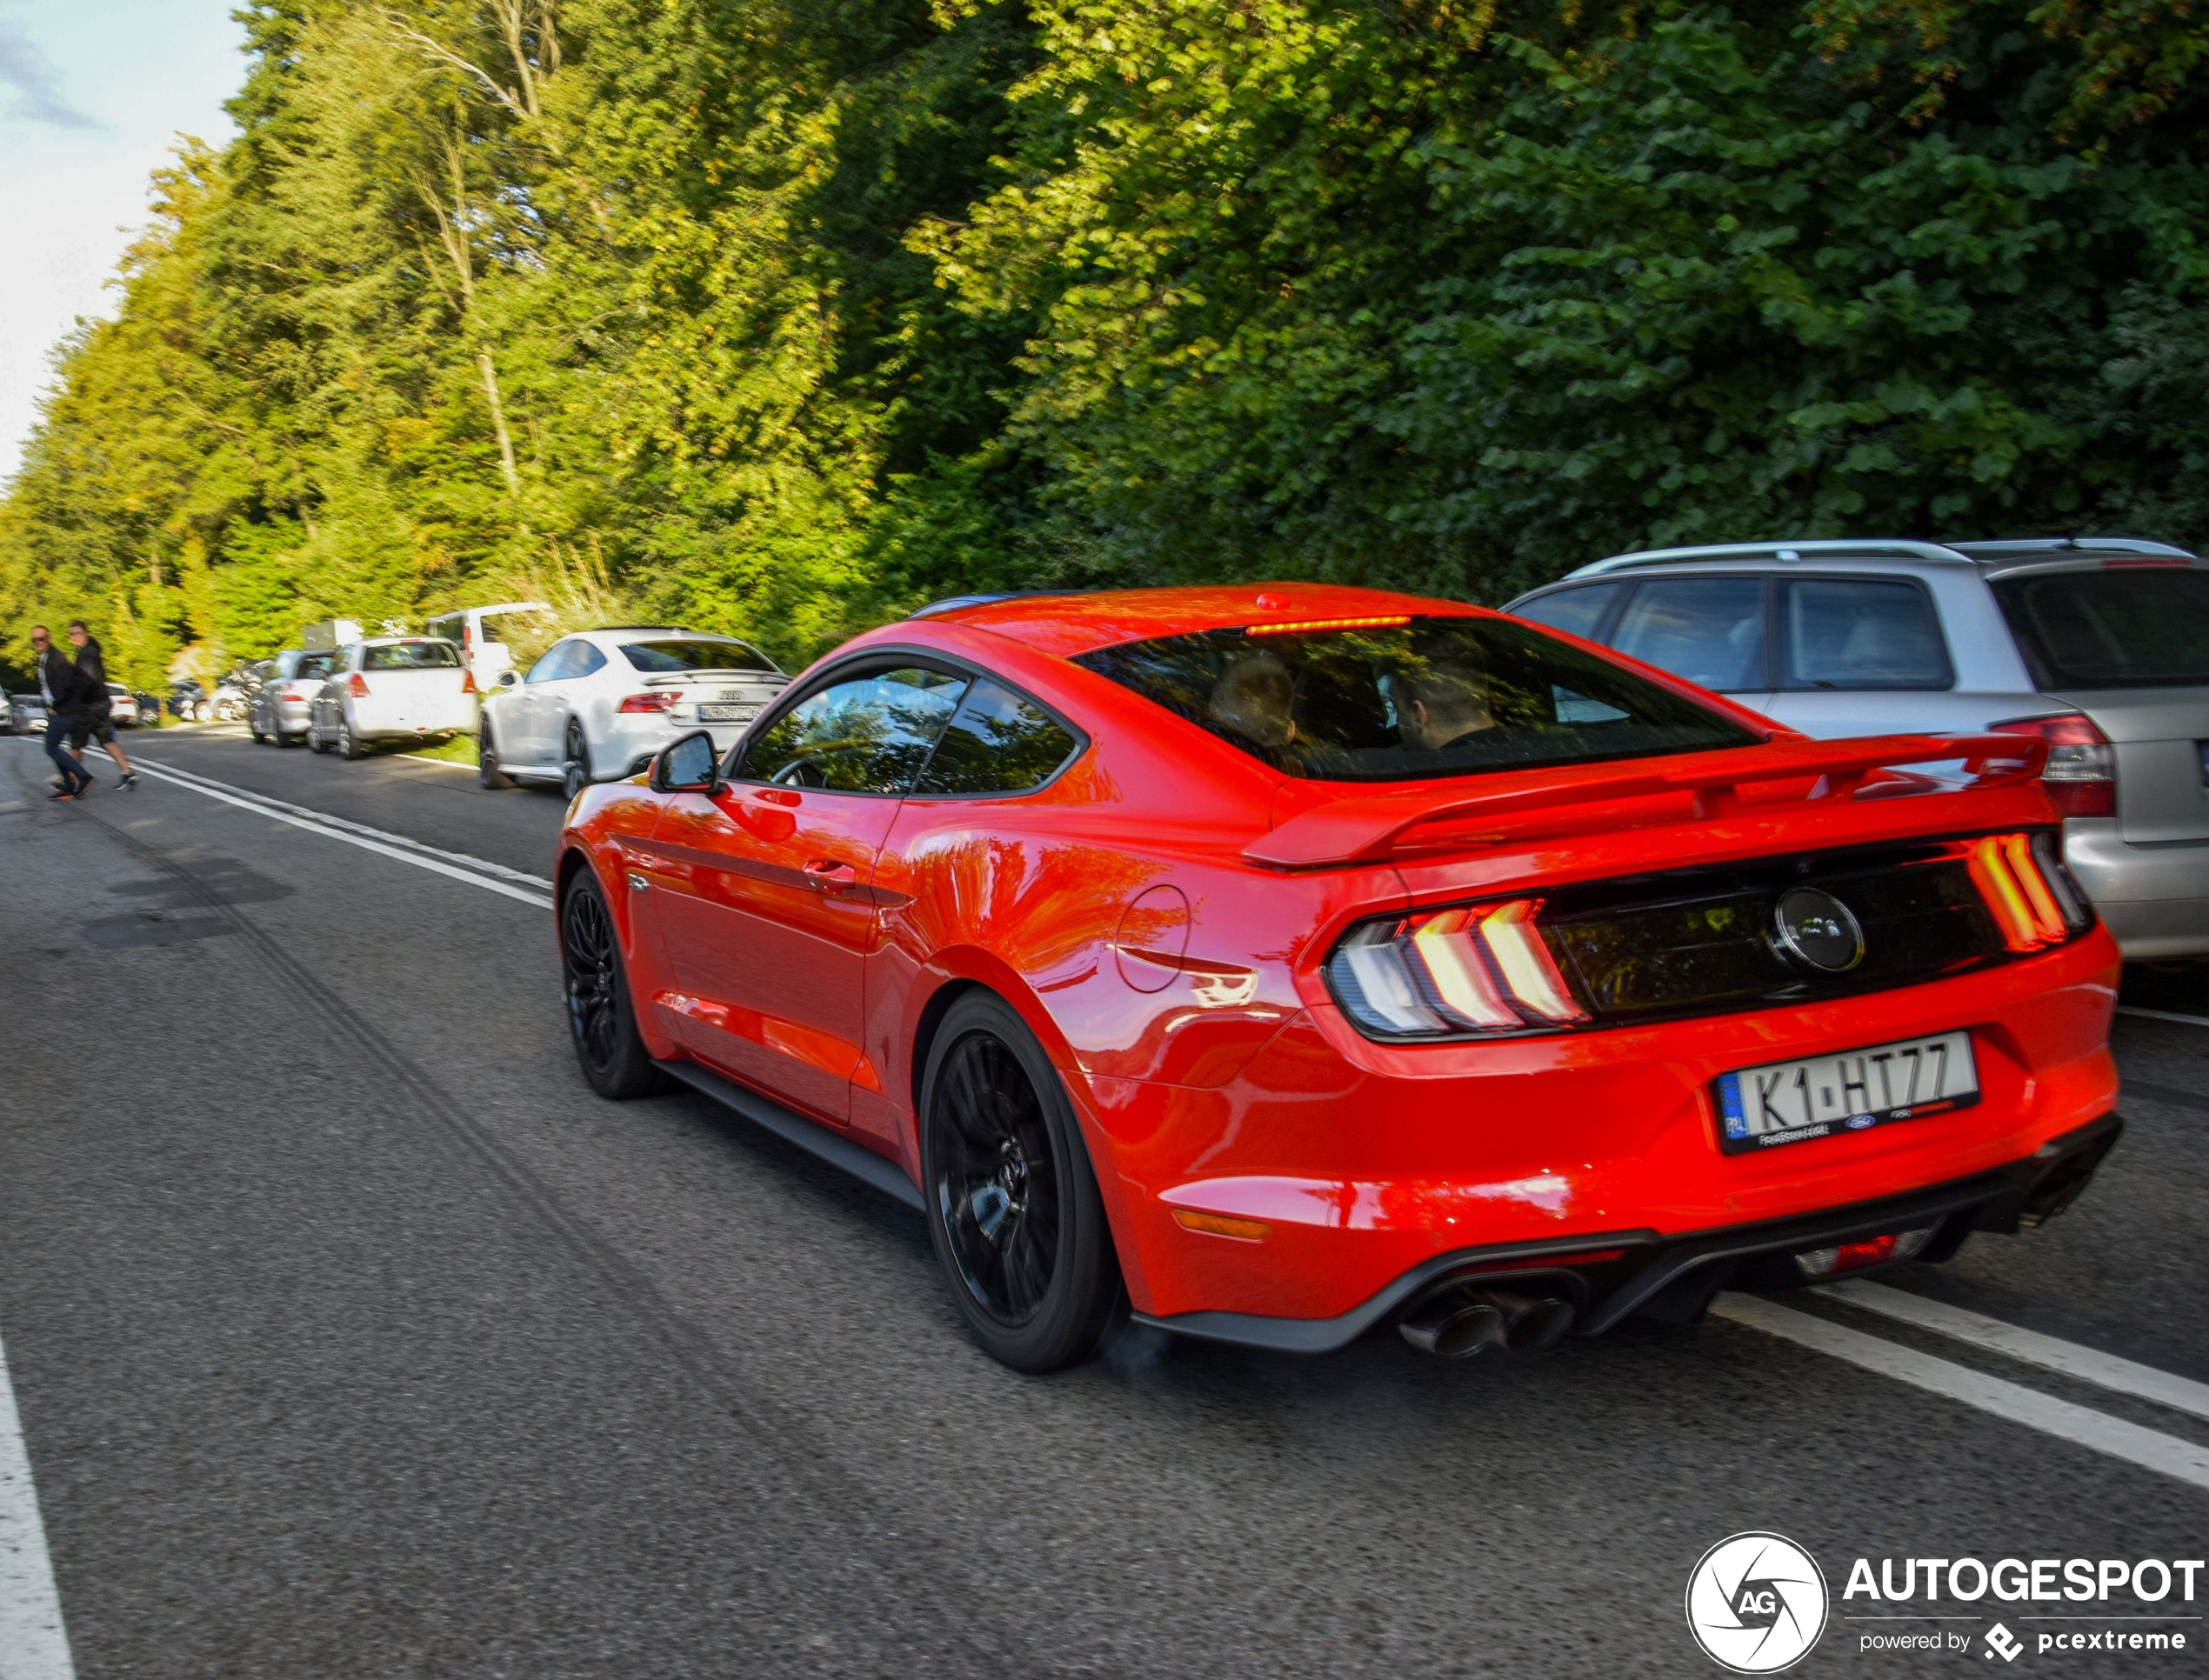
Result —
<path fill-rule="evenodd" d="M 1142 1325 L 1211 1342 L 1261 1347 L 1277 1353 L 1332 1353 L 1418 1300 L 1465 1283 L 1518 1283 L 1573 1296 L 1575 1336 L 1602 1336 L 1630 1314 L 1666 1298 L 1701 1305 L 1725 1285 L 1750 1289 L 1803 1283 L 1794 1258 L 1803 1250 L 1833 1247 L 1871 1236 L 1933 1227 L 1920 1258 L 1944 1261 L 1970 1232 L 2015 1232 L 2054 1219 L 2092 1181 L 2116 1146 L 2123 1121 L 2110 1113 L 2041 1144 L 2032 1155 L 1993 1172 L 1827 1208 L 1794 1219 L 1659 1236 L 1650 1230 L 1590 1232 L 1549 1243 L 1467 1247 L 1412 1267 L 1385 1289 L 1334 1318 L 1270 1318 L 1264 1314 L 1193 1311 Z M 1586 1263 L 1590 1252 L 1617 1258 Z M 1582 1261 L 1582 1263 L 1575 1263 Z"/>

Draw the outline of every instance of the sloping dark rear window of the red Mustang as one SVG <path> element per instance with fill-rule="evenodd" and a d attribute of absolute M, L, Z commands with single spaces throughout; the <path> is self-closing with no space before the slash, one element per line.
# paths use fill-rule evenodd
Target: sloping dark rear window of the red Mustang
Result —
<path fill-rule="evenodd" d="M 1080 653 L 1076 664 L 1314 781 L 1414 781 L 1763 740 L 1502 618 L 1208 629 Z"/>

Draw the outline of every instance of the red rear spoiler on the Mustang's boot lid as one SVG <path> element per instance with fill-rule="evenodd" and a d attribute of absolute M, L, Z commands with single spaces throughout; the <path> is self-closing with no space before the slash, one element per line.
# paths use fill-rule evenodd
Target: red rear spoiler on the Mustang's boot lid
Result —
<path fill-rule="evenodd" d="M 1692 795 L 1692 812 L 1683 817 L 1710 821 L 1752 804 L 1953 793 L 1957 790 L 1953 784 L 1944 788 L 1902 773 L 1902 766 L 1957 759 L 1970 777 L 1968 788 L 1993 788 L 2037 777 L 2048 762 L 2048 744 L 2032 735 L 1875 735 L 1851 742 L 1789 740 L 1730 746 L 1672 759 L 1507 770 L 1482 777 L 1478 788 L 1465 793 L 1438 795 L 1429 781 L 1401 793 L 1334 799 L 1255 839 L 1244 848 L 1244 859 L 1277 870 L 1374 863 L 1396 850 L 1405 830 L 1425 823 L 1493 821 L 1502 823 L 1502 832 L 1495 834 L 1502 839 L 1513 828 L 1555 819 L 1562 808 L 1666 795 Z M 1758 793 L 1745 795 L 1745 788 Z"/>

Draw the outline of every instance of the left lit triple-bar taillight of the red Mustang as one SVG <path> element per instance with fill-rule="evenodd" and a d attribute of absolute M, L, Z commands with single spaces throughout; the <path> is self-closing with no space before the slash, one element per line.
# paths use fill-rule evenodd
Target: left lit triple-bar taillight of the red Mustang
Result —
<path fill-rule="evenodd" d="M 1359 1027 L 1385 1035 L 1573 1027 L 1573 998 L 1535 927 L 1540 899 L 1387 916 L 1352 929 L 1328 978 Z"/>

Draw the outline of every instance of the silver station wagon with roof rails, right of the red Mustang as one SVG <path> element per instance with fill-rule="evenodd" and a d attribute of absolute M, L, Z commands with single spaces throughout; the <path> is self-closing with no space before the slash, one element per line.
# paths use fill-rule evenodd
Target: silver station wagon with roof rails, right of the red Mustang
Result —
<path fill-rule="evenodd" d="M 2209 565 L 2123 536 L 1617 554 L 1504 612 L 1818 737 L 2037 735 L 2127 958 L 2209 956 Z"/>

